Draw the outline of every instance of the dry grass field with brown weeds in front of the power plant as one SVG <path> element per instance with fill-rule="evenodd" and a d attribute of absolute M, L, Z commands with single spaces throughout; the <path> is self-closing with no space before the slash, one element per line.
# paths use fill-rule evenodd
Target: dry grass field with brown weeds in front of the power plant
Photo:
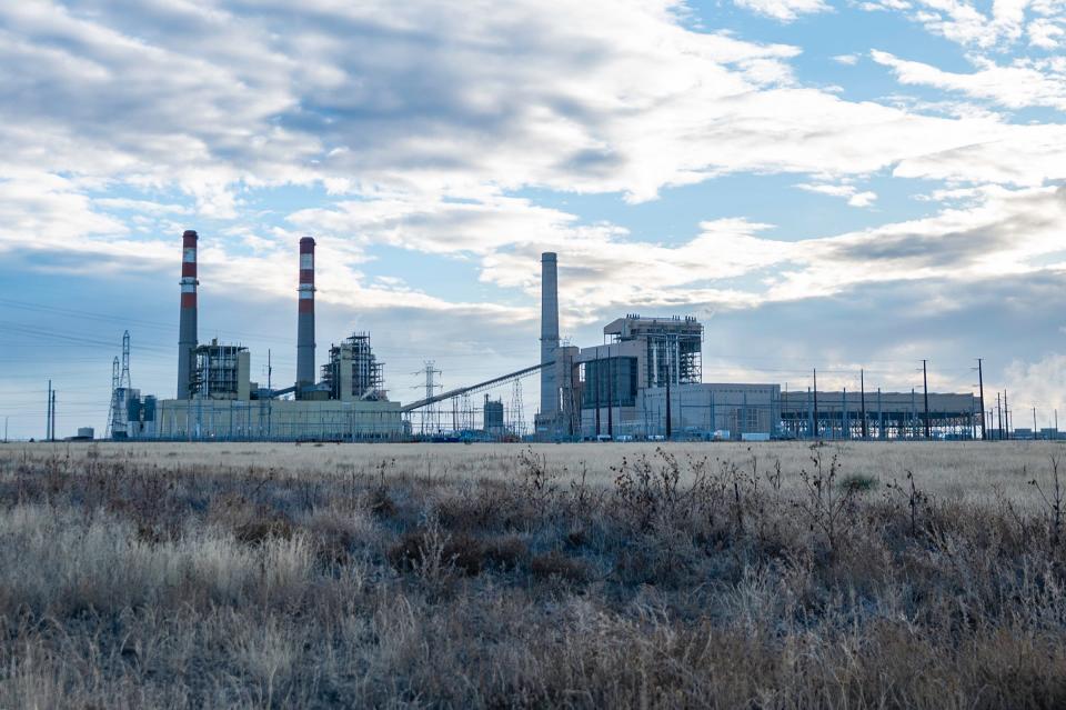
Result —
<path fill-rule="evenodd" d="M 0 708 L 1066 707 L 1059 458 L 0 446 Z"/>

